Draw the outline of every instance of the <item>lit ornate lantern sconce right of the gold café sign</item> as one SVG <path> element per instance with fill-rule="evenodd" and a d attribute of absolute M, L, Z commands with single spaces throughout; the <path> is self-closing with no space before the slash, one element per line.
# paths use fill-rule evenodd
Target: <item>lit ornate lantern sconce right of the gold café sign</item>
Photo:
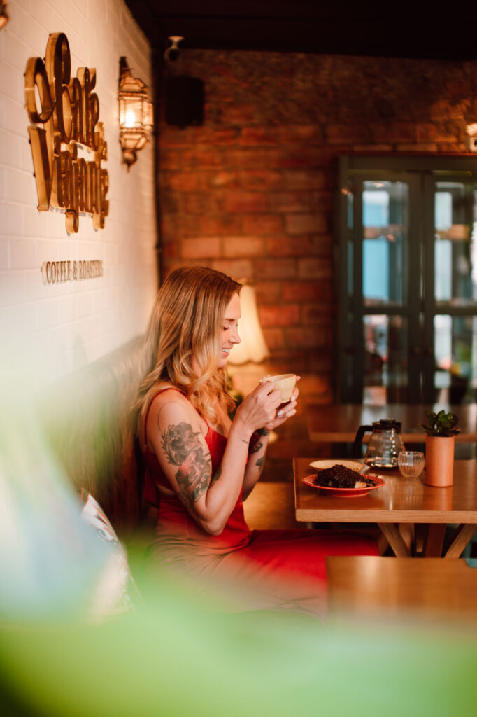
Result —
<path fill-rule="evenodd" d="M 131 75 L 125 57 L 120 58 L 118 99 L 120 105 L 120 143 L 122 161 L 129 170 L 137 157 L 136 152 L 145 146 L 153 128 L 153 105 L 148 88 L 142 80 Z"/>

